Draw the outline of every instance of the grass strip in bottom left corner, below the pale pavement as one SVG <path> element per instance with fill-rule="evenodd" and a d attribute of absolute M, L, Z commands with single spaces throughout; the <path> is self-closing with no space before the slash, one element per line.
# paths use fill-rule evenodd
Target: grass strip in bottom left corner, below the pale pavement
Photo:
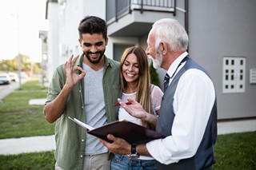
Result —
<path fill-rule="evenodd" d="M 1 169 L 54 169 L 54 152 L 33 152 L 18 155 L 0 155 Z"/>

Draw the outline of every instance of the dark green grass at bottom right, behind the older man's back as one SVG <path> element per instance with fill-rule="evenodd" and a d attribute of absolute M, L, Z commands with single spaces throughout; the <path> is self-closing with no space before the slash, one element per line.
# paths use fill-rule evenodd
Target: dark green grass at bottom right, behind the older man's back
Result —
<path fill-rule="evenodd" d="M 256 169 L 256 132 L 218 135 L 214 169 Z"/>

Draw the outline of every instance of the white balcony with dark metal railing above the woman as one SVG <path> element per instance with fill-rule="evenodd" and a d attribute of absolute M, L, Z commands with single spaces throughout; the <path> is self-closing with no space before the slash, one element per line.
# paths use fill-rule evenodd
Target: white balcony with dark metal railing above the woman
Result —
<path fill-rule="evenodd" d="M 106 0 L 109 36 L 148 34 L 156 20 L 175 15 L 175 4 L 176 0 Z"/>

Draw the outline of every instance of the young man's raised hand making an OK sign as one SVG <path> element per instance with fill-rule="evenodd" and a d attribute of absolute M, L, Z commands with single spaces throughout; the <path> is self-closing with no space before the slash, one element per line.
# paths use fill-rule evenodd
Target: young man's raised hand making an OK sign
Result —
<path fill-rule="evenodd" d="M 77 57 L 74 57 L 72 55 L 68 61 L 64 64 L 64 69 L 66 72 L 66 85 L 69 89 L 73 89 L 74 85 L 78 83 L 83 77 L 86 76 L 86 70 L 83 70 L 79 66 L 75 66 L 74 63 L 77 61 L 79 55 Z M 75 73 L 76 70 L 80 70 L 81 73 L 77 74 Z"/>

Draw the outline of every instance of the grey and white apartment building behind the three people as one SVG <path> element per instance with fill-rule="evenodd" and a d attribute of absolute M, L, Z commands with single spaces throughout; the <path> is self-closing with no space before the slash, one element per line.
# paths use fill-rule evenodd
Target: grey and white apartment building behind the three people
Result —
<path fill-rule="evenodd" d="M 82 53 L 78 23 L 86 15 L 106 20 L 106 56 L 119 61 L 130 45 L 146 49 L 152 24 L 177 19 L 189 34 L 190 57 L 208 72 L 218 97 L 218 120 L 256 118 L 256 1 L 254 0 L 48 0 L 47 76 Z M 158 69 L 160 82 L 164 70 Z"/>

